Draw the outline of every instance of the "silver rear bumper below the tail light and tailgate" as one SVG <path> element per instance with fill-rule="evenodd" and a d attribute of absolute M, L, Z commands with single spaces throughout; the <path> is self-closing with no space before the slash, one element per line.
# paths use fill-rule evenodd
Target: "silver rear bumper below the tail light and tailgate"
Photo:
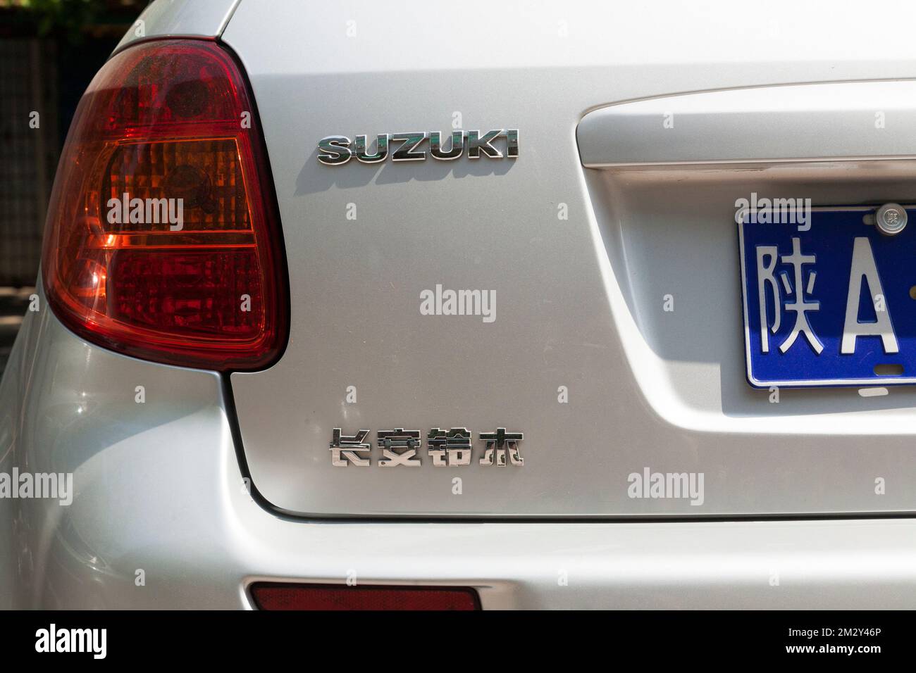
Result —
<path fill-rule="evenodd" d="M 89 345 L 41 300 L 0 386 L 0 472 L 72 472 L 75 496 L 0 498 L 2 607 L 249 608 L 253 581 L 348 578 L 473 586 L 485 609 L 916 606 L 916 519 L 278 516 L 245 488 L 216 374 Z"/>

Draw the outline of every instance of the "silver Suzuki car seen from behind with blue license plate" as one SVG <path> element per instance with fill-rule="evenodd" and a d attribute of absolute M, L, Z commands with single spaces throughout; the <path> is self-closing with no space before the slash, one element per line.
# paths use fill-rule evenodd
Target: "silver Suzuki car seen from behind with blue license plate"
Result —
<path fill-rule="evenodd" d="M 0 387 L 0 607 L 913 607 L 913 19 L 156 0 Z"/>

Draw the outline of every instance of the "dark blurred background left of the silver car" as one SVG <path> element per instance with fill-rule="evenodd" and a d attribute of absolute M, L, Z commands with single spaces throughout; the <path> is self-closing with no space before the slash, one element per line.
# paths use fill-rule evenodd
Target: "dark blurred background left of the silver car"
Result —
<path fill-rule="evenodd" d="M 76 105 L 148 3 L 0 0 L 0 373 L 34 291 L 54 172 Z M 29 124 L 33 112 L 38 128 Z"/>

